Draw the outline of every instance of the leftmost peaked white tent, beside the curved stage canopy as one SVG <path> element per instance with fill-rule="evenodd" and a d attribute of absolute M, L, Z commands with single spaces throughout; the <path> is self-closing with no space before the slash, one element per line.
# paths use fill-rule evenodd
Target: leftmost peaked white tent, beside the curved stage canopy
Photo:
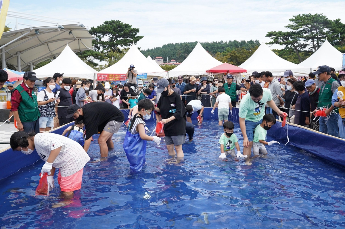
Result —
<path fill-rule="evenodd" d="M 60 55 L 50 63 L 36 70 L 37 78 L 53 77 L 54 73 L 63 73 L 63 77 L 93 80 L 97 71 L 82 61 L 72 49 L 66 45 Z"/>

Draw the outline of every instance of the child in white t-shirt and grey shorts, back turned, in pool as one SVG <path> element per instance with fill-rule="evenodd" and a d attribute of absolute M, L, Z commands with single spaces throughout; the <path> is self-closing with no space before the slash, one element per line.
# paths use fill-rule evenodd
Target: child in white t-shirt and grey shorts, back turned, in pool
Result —
<path fill-rule="evenodd" d="M 223 125 L 224 122 L 228 121 L 229 117 L 229 108 L 230 108 L 230 115 L 233 114 L 233 107 L 231 106 L 231 99 L 225 93 L 225 89 L 223 87 L 218 88 L 219 96 L 217 96 L 216 103 L 211 110 L 211 114 L 213 115 L 215 112 L 216 107 L 218 106 L 218 125 Z"/>

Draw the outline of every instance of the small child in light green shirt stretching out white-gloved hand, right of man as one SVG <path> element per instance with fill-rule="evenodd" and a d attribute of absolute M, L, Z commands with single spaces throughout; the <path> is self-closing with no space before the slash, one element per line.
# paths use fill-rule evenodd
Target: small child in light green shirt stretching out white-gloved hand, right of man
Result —
<path fill-rule="evenodd" d="M 253 139 L 253 153 L 254 157 L 259 156 L 260 153 L 263 155 L 267 154 L 267 150 L 265 145 L 271 146 L 274 143 L 278 143 L 277 141 L 265 141 L 267 130 L 269 130 L 274 124 L 276 124 L 276 118 L 272 114 L 266 114 L 260 125 L 254 130 L 254 139 Z"/>

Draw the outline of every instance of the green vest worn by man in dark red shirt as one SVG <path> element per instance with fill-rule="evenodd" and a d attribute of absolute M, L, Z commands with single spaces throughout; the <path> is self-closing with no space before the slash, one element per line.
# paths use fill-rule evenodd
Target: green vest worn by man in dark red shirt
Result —
<path fill-rule="evenodd" d="M 40 117 L 40 112 L 38 111 L 37 97 L 32 91 L 32 98 L 29 96 L 28 92 L 24 90 L 22 86 L 17 86 L 16 90 L 19 91 L 22 101 L 19 103 L 18 115 L 21 122 L 33 122 Z"/>

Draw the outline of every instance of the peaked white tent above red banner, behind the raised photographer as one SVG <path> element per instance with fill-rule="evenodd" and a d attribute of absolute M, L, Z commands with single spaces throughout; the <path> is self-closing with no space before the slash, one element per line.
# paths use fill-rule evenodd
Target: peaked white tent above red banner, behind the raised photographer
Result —
<path fill-rule="evenodd" d="M 153 63 L 147 59 L 137 48 L 132 44 L 128 52 L 118 62 L 103 69 L 99 73 L 125 74 L 129 66 L 133 64 L 138 73 L 147 73 L 148 76 L 160 76 L 167 78 L 167 71 L 164 71 L 158 64 Z"/>

